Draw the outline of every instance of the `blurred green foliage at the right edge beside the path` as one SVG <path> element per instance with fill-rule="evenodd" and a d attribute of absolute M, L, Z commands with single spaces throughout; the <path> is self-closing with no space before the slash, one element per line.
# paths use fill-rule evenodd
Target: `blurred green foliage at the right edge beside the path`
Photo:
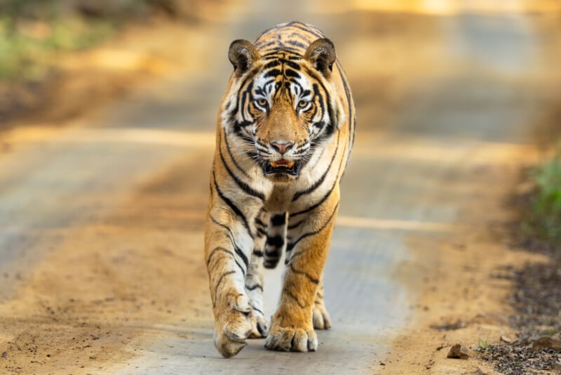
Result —
<path fill-rule="evenodd" d="M 525 228 L 554 246 L 561 244 L 561 151 L 532 171 L 536 194 Z"/>

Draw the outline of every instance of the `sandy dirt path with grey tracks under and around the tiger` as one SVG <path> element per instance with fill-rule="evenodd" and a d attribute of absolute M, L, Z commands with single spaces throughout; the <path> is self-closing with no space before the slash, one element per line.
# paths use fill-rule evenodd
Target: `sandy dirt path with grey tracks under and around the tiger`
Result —
<path fill-rule="evenodd" d="M 244 22 L 182 34 L 192 67 L 73 126 L 6 134 L 3 371 L 248 373 L 266 360 L 271 373 L 450 374 L 480 364 L 445 360 L 447 346 L 508 334 L 500 266 L 527 257 L 501 234 L 502 199 L 537 157 L 531 129 L 557 82 L 548 30 L 524 17 L 309 13 L 329 25 L 360 114 L 326 269 L 334 327 L 318 353 L 258 340 L 219 358 L 201 246 L 225 51 L 293 18 L 283 4 L 265 19 L 259 4 L 232 17 Z M 267 275 L 269 312 L 278 279 Z"/>

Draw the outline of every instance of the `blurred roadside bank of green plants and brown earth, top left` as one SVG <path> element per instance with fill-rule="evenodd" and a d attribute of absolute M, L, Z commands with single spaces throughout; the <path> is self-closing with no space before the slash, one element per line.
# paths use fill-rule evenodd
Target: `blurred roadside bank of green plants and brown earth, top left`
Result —
<path fill-rule="evenodd" d="M 207 8 L 227 2 L 0 0 L 0 131 L 26 116 L 60 122 L 83 112 L 86 103 L 91 107 L 125 92 L 140 74 L 94 70 L 91 56 L 82 53 L 103 48 L 104 41 L 111 43 L 135 27 L 196 26 Z M 78 58 L 69 68 L 72 56 Z"/>

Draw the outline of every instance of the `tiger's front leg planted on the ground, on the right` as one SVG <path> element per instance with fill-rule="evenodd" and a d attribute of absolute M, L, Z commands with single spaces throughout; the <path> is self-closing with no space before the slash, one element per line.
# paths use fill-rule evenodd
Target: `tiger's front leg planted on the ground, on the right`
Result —
<path fill-rule="evenodd" d="M 300 224 L 289 230 L 287 256 L 290 251 L 290 258 L 286 263 L 280 303 L 265 341 L 266 348 L 299 352 L 317 350 L 313 308 L 338 208 L 339 192 L 336 188 L 332 199 L 309 213 L 301 214 L 307 217 L 289 216 L 290 223 Z"/>

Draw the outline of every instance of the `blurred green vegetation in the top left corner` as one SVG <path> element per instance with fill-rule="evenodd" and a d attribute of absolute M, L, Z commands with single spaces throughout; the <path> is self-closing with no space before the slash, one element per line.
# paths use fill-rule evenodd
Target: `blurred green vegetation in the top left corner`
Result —
<path fill-rule="evenodd" d="M 58 53 L 90 48 L 154 15 L 196 20 L 197 0 L 0 0 L 0 82 L 38 81 Z"/>

